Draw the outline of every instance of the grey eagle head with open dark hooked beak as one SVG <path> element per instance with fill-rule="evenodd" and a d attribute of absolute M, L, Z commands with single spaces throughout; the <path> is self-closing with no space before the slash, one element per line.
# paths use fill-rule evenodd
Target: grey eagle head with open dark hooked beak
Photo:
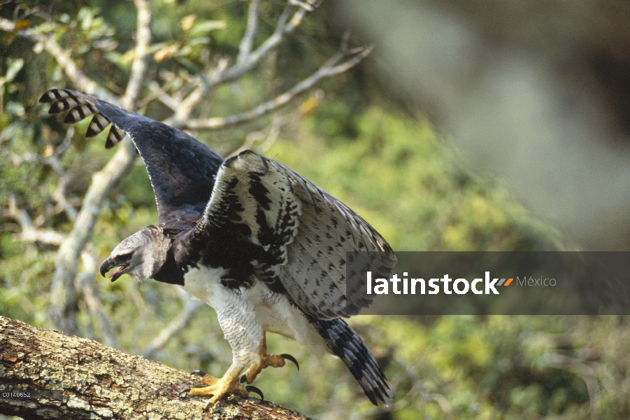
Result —
<path fill-rule="evenodd" d="M 148 280 L 154 276 L 164 262 L 171 248 L 171 241 L 164 236 L 162 228 L 150 225 L 134 233 L 118 244 L 112 253 L 101 264 L 101 275 L 114 268 L 109 274 L 116 281 L 122 274 L 129 274 L 136 281 Z"/>

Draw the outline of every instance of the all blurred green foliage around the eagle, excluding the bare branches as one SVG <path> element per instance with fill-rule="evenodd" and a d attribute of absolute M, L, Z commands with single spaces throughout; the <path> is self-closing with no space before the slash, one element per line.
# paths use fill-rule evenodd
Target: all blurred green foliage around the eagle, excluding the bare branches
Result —
<path fill-rule="evenodd" d="M 204 60 L 214 59 L 204 52 L 208 45 L 216 54 L 234 57 L 238 52 L 246 2 L 154 1 L 152 6 L 157 59 L 150 77 L 170 84 L 169 93 L 189 89 L 187 77 Z M 133 4 L 60 1 L 51 7 L 50 20 L 37 15 L 24 20 L 36 31 L 54 34 L 80 69 L 101 85 L 121 90 L 133 59 L 128 52 L 134 43 Z M 261 8 L 257 45 L 272 33 L 281 11 L 273 2 L 261 2 Z M 14 6 L 0 6 L 3 18 L 15 13 L 19 15 Z M 0 314 L 52 327 L 47 309 L 57 246 L 20 241 L 12 209 L 24 211 L 40 230 L 69 232 L 73 222 L 55 200 L 59 167 L 69 176 L 65 193 L 76 207 L 92 174 L 113 151 L 103 151 L 105 134 L 85 140 L 87 123 L 66 132 L 59 118 L 49 118 L 36 105 L 46 88 L 69 86 L 68 81 L 55 60 L 33 52 L 34 45 L 1 35 Z M 313 71 L 338 43 L 326 16 L 314 15 L 262 66 L 211 92 L 213 109 L 203 112 L 229 116 L 270 99 Z M 531 216 L 499 183 L 487 174 L 473 174 L 426 118 L 404 113 L 384 99 L 369 65 L 327 80 L 323 102 L 306 118 L 286 125 L 265 154 L 350 205 L 397 251 L 564 248 L 559 232 Z M 153 118 L 169 115 L 153 103 L 144 111 Z M 194 135 L 226 154 L 241 146 L 248 133 L 264 130 L 269 120 Z M 156 221 L 155 199 L 138 161 L 110 194 L 96 223 L 92 243 L 99 261 L 120 239 Z M 176 286 L 154 281 L 136 284 L 125 276 L 110 283 L 98 276 L 94 286 L 117 347 L 131 353 L 142 353 L 185 304 Z M 85 307 L 80 309 L 85 335 L 103 339 Z M 291 353 L 301 370 L 267 369 L 255 385 L 269 400 L 322 419 L 630 417 L 627 317 L 359 316 L 350 323 L 392 382 L 391 412 L 375 409 L 364 398 L 340 360 L 317 358 L 274 335 L 269 349 Z M 208 307 L 152 357 L 215 375 L 231 360 Z"/>

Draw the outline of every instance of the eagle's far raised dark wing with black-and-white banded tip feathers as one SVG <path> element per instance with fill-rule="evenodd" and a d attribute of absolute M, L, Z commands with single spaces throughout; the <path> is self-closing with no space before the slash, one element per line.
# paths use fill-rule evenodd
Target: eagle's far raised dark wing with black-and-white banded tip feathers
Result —
<path fill-rule="evenodd" d="M 92 138 L 111 124 L 106 148 L 120 143 L 125 134 L 143 159 L 159 213 L 159 222 L 196 214 L 206 207 L 223 158 L 185 132 L 137 113 L 67 89 L 49 90 L 39 102 L 50 103 L 48 113 L 69 111 L 64 123 L 92 117 L 85 137 Z M 194 216 L 193 216 L 194 217 Z"/>

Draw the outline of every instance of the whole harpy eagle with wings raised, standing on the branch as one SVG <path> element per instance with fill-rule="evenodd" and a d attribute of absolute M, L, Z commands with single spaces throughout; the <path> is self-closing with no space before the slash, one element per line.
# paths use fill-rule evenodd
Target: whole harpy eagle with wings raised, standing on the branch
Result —
<path fill-rule="evenodd" d="M 244 151 L 223 159 L 185 132 L 72 90 L 49 90 L 40 102 L 64 123 L 94 115 L 85 137 L 110 128 L 106 148 L 127 134 L 149 174 L 159 219 L 118 244 L 103 261 L 112 281 L 129 274 L 181 286 L 217 311 L 232 363 L 221 378 L 189 395 L 214 403 L 227 393 L 248 395 L 264 367 L 287 354 L 268 354 L 266 332 L 296 339 L 314 353 L 333 353 L 368 398 L 387 404 L 385 374 L 342 316 L 370 297 L 346 297 L 346 251 L 380 255 L 377 272 L 396 263 L 371 225 L 307 179 L 274 160 Z M 296 363 L 297 364 L 297 363 Z M 242 374 L 245 370 L 244 374 Z"/>

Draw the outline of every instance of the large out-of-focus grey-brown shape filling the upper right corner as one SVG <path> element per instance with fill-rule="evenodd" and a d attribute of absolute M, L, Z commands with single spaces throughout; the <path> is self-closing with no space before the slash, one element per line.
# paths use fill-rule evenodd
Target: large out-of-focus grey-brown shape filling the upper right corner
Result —
<path fill-rule="evenodd" d="M 475 171 L 582 249 L 628 248 L 629 3 L 334 4 L 336 27 L 378 45 L 388 94 L 428 113 Z"/>

